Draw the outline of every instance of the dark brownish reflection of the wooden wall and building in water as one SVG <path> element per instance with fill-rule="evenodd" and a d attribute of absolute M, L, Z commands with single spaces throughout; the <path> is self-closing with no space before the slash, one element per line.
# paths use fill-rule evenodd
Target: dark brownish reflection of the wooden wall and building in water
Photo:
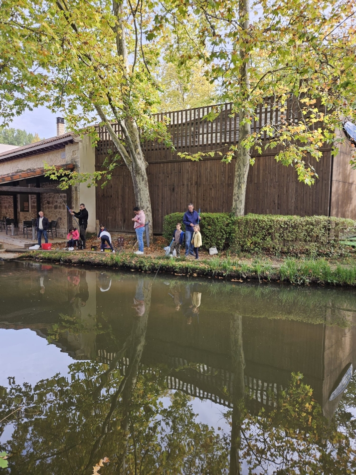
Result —
<path fill-rule="evenodd" d="M 21 299 L 16 288 L 5 296 L 1 328 L 31 328 L 55 336 L 53 344 L 74 359 L 110 364 L 149 305 L 140 365 L 166 365 L 170 389 L 226 407 L 244 393 L 255 410 L 272 407 L 273 394 L 300 372 L 331 418 L 342 395 L 329 401 L 330 394 L 343 370 L 356 364 L 352 292 L 289 287 L 281 300 L 273 285 L 259 295 L 255 285 L 219 293 L 204 282 L 158 278 L 153 285 L 149 274 L 34 268 L 38 279 L 24 274 Z M 59 314 L 65 324 L 53 335 Z M 123 371 L 129 353 L 117 361 Z"/>

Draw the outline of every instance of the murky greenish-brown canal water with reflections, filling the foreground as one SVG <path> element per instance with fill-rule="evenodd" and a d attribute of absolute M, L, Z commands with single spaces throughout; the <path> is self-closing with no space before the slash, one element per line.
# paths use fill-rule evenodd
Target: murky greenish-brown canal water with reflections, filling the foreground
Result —
<path fill-rule="evenodd" d="M 354 290 L 154 277 L 1 263 L 0 474 L 356 472 Z"/>

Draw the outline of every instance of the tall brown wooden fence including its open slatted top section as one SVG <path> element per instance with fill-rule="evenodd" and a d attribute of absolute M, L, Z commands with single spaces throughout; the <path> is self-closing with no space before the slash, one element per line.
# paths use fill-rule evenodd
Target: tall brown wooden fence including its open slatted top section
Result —
<path fill-rule="evenodd" d="M 219 111 L 218 116 L 212 122 L 203 119 L 214 108 Z M 300 119 L 297 101 L 290 100 L 283 114 L 290 122 L 297 122 Z M 273 99 L 268 99 L 259 106 L 256 117 L 252 121 L 252 130 L 258 132 L 267 122 L 279 122 L 281 112 Z M 227 152 L 230 145 L 238 141 L 239 118 L 237 114 L 232 114 L 232 104 L 162 113 L 157 114 L 157 119 L 168 122 L 175 151 L 158 141 L 143 144 L 149 164 L 147 174 L 154 232 L 162 233 L 164 216 L 185 211 L 189 202 L 202 212 L 229 212 L 235 159 L 225 164 L 216 155 L 191 162 L 178 157 L 177 152 Z M 121 135 L 119 124 L 114 124 L 114 129 Z M 96 170 L 101 170 L 106 157 L 116 153 L 107 130 L 100 127 L 99 134 Z M 264 136 L 264 144 L 267 140 Z M 319 180 L 312 187 L 298 183 L 293 167 L 276 163 L 274 157 L 277 152 L 273 150 L 255 155 L 255 165 L 250 167 L 248 174 L 245 213 L 328 216 L 331 209 L 331 147 L 323 150 L 323 158 L 319 162 L 312 161 L 319 175 Z M 97 219 L 104 221 L 112 231 L 133 231 L 131 218 L 135 198 L 127 167 L 117 167 L 112 180 L 103 189 L 98 187 L 96 193 Z"/>

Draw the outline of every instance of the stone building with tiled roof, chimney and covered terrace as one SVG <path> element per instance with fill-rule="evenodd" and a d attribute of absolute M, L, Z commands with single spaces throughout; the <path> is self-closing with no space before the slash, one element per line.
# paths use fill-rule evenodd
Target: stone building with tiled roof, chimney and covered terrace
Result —
<path fill-rule="evenodd" d="M 95 189 L 80 184 L 58 190 L 58 182 L 44 176 L 44 164 L 94 172 L 90 138 L 65 133 L 64 121 L 58 117 L 56 137 L 0 153 L 0 219 L 14 219 L 21 234 L 23 222 L 36 218 L 42 210 L 49 221 L 57 221 L 58 237 L 65 238 L 68 227 L 75 225 L 65 203 L 76 211 L 84 203 L 89 212 L 87 231 L 95 232 Z"/>

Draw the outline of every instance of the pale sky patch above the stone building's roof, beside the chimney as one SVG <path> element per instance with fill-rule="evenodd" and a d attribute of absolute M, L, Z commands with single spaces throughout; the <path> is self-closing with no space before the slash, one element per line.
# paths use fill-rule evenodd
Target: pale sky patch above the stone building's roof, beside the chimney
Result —
<path fill-rule="evenodd" d="M 52 114 L 46 107 L 38 107 L 15 117 L 9 127 L 25 130 L 33 135 L 37 133 L 41 139 L 49 139 L 57 135 L 56 117 L 61 116 L 61 113 Z"/>

